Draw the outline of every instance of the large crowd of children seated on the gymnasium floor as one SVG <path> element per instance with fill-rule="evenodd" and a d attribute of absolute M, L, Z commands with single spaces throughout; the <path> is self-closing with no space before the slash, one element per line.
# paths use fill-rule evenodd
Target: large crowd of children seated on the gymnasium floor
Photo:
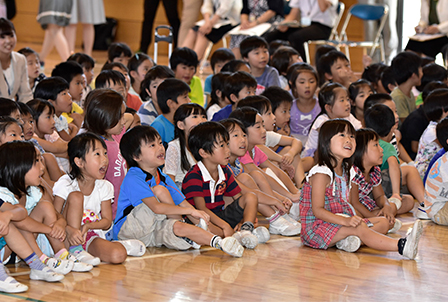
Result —
<path fill-rule="evenodd" d="M 52 282 L 153 246 L 241 257 L 271 234 L 414 259 L 421 220 L 404 238 L 385 234 L 414 199 L 418 218 L 448 224 L 448 88 L 433 82 L 446 70 L 434 79 L 442 67 L 422 72 L 420 57 L 400 53 L 354 81 L 342 52 L 319 48 L 316 70 L 275 43 L 245 38 L 242 60 L 215 51 L 204 89 L 189 48 L 166 67 L 114 43 L 93 90 L 89 56 L 45 78 L 36 52 L 22 49 L 34 98 L 0 99 L 2 260 L 15 253 L 31 279 Z M 430 88 L 415 110 L 425 69 Z M 400 130 L 422 115 L 413 160 Z M 0 291 L 27 289 L 0 268 Z"/>

